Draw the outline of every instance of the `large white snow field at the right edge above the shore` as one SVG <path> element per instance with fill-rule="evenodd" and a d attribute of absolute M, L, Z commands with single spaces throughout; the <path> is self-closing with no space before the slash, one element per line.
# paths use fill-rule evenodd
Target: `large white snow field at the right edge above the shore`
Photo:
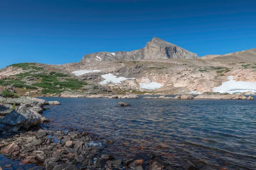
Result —
<path fill-rule="evenodd" d="M 256 92 L 256 82 L 247 82 L 247 81 L 234 81 L 233 76 L 229 76 L 226 81 L 221 84 L 221 86 L 214 87 L 212 92 L 228 92 L 232 93 L 241 93 L 241 92 Z"/>

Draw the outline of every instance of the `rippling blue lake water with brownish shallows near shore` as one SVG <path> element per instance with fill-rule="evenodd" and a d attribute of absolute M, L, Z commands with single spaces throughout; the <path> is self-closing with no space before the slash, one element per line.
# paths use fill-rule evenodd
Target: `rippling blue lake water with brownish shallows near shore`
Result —
<path fill-rule="evenodd" d="M 104 152 L 116 157 L 155 153 L 169 169 L 182 160 L 202 169 L 256 168 L 255 100 L 44 99 L 61 102 L 43 113 L 49 127 L 114 141 Z"/>

